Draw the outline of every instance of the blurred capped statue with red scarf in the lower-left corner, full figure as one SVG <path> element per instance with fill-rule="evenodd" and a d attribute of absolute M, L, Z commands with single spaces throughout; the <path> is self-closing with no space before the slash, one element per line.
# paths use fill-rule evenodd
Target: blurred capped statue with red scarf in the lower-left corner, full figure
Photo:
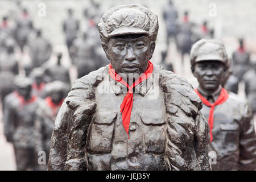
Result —
<path fill-rule="evenodd" d="M 35 154 L 34 123 L 40 98 L 32 96 L 32 80 L 27 77 L 15 80 L 18 95 L 7 98 L 9 107 L 4 108 L 5 135 L 13 143 L 16 166 L 19 171 L 37 170 L 38 154 Z"/>

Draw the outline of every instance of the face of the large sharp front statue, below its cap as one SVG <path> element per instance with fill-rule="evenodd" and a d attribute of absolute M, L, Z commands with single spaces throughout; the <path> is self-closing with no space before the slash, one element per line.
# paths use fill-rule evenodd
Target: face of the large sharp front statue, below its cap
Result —
<path fill-rule="evenodd" d="M 114 36 L 107 44 L 104 51 L 113 69 L 127 77 L 134 73 L 144 73 L 155 49 L 155 42 L 142 34 Z"/>

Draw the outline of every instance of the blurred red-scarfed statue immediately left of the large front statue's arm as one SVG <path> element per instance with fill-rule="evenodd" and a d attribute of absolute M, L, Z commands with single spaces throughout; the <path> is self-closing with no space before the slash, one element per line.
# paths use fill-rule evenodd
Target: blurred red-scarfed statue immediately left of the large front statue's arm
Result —
<path fill-rule="evenodd" d="M 51 143 L 54 121 L 60 106 L 67 96 L 66 85 L 61 81 L 53 81 L 46 86 L 48 97 L 38 107 L 35 122 L 36 151 L 46 151 L 46 164 L 48 164 L 49 148 Z M 47 166 L 44 166 L 47 169 Z"/>

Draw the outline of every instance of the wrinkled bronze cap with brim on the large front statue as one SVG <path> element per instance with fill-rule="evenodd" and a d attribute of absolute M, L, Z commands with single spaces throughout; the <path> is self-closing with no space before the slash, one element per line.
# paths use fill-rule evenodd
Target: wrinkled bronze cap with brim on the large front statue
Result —
<path fill-rule="evenodd" d="M 152 41 L 158 34 L 158 16 L 142 5 L 120 5 L 107 11 L 98 23 L 102 42 L 112 36 L 146 34 Z"/>

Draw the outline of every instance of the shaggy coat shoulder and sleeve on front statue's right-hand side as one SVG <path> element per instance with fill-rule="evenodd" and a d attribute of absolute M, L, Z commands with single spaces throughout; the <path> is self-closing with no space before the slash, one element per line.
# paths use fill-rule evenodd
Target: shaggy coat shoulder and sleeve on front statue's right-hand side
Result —
<path fill-rule="evenodd" d="M 200 98 L 187 80 L 169 71 L 162 72 L 160 85 L 166 100 L 167 154 L 171 168 L 209 170 L 208 124 L 200 112 L 203 106 Z"/>

